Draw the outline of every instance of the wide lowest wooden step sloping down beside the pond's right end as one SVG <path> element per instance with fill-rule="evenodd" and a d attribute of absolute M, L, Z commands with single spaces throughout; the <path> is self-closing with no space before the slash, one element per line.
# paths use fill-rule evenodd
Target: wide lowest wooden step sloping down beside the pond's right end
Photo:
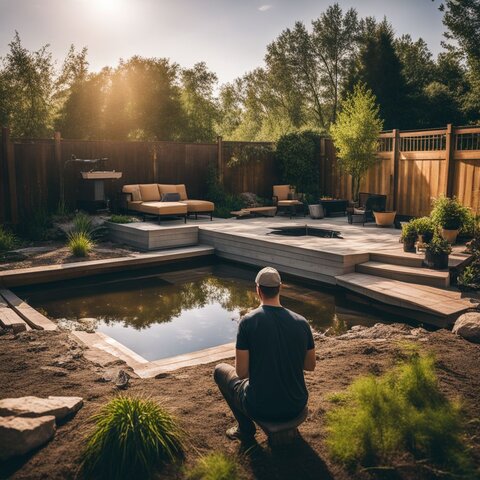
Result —
<path fill-rule="evenodd" d="M 443 318 L 445 325 L 474 306 L 458 291 L 413 285 L 364 273 L 340 275 L 336 281 L 337 285 L 378 302 Z"/>

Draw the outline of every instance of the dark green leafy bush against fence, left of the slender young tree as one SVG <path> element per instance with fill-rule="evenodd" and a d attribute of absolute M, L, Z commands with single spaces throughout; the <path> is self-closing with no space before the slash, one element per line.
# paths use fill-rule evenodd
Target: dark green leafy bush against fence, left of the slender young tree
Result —
<path fill-rule="evenodd" d="M 277 142 L 276 159 L 282 181 L 298 193 L 318 198 L 320 135 L 313 131 L 290 133 Z"/>

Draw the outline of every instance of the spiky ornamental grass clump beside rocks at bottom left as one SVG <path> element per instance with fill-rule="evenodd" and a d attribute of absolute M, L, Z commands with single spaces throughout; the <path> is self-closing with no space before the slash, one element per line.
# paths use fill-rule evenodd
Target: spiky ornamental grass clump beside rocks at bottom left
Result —
<path fill-rule="evenodd" d="M 120 396 L 92 420 L 83 457 L 87 476 L 150 478 L 156 467 L 183 458 L 183 431 L 153 400 Z"/>

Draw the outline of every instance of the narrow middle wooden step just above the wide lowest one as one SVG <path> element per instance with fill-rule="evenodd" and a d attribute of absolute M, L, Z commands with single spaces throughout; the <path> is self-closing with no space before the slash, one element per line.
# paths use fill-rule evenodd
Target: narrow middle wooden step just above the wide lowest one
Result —
<path fill-rule="evenodd" d="M 431 287 L 447 288 L 450 285 L 448 270 L 431 270 L 423 267 L 409 267 L 406 265 L 392 265 L 384 262 L 365 262 L 355 266 L 358 273 L 376 275 L 401 282 L 430 285 Z"/>

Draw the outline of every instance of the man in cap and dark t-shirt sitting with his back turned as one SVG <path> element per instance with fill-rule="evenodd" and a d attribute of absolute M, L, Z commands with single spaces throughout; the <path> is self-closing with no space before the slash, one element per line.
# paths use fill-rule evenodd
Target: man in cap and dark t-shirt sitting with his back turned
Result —
<path fill-rule="evenodd" d="M 221 363 L 214 379 L 238 426 L 231 439 L 251 440 L 252 420 L 284 422 L 307 405 L 303 370 L 315 369 L 315 345 L 309 324 L 280 303 L 280 274 L 266 267 L 255 279 L 260 307 L 238 326 L 235 368 Z"/>

